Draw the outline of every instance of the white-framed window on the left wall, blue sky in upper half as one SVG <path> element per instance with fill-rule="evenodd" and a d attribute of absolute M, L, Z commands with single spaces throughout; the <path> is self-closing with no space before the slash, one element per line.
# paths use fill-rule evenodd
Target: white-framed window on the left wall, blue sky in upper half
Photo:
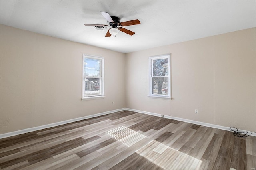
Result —
<path fill-rule="evenodd" d="M 82 100 L 104 96 L 104 58 L 83 54 Z"/>

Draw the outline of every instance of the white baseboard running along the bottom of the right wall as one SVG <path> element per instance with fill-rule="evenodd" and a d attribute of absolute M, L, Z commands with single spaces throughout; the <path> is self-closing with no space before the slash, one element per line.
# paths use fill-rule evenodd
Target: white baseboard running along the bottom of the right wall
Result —
<path fill-rule="evenodd" d="M 158 113 L 151 113 L 151 112 L 146 112 L 146 111 L 139 111 L 139 110 L 136 110 L 136 109 L 129 109 L 129 108 L 125 108 L 125 110 L 128 110 L 128 111 L 134 111 L 134 112 L 138 112 L 138 113 L 144 113 L 144 114 L 147 114 L 147 115 L 153 115 L 153 116 L 158 116 L 158 117 L 162 117 L 161 114 L 158 114 Z M 188 123 L 193 123 L 193 124 L 196 124 L 196 125 L 202 125 L 202 126 L 206 126 L 206 127 L 212 127 L 212 128 L 218 128 L 218 129 L 221 129 L 221 130 L 227 130 L 227 131 L 230 131 L 230 127 L 224 127 L 224 126 L 220 126 L 220 125 L 214 125 L 214 124 L 210 124 L 210 123 L 204 123 L 204 122 L 199 122 L 199 121 L 193 121 L 193 120 L 189 120 L 189 119 L 183 119 L 183 118 L 179 118 L 179 117 L 172 117 L 172 116 L 168 116 L 168 115 L 164 115 L 165 118 L 168 118 L 168 119 L 174 119 L 174 120 L 177 120 L 177 121 L 183 121 L 183 122 L 188 122 Z M 248 131 L 248 130 L 239 130 L 239 132 L 245 132 L 245 131 Z M 248 131 L 248 134 L 250 134 L 251 132 Z M 256 136 L 256 133 L 252 133 L 251 136 Z"/>

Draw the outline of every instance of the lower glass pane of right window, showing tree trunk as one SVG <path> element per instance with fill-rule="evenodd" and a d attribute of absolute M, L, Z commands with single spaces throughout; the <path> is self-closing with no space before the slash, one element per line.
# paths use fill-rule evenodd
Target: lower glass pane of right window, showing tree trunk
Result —
<path fill-rule="evenodd" d="M 168 95 L 168 78 L 154 77 L 152 79 L 152 94 L 154 95 Z"/>

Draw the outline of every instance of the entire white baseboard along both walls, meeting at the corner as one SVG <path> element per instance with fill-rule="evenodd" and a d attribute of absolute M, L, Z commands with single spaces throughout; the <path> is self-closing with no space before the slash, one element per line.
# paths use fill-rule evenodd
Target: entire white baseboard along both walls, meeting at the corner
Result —
<path fill-rule="evenodd" d="M 70 119 L 70 120 L 66 120 L 66 121 L 51 123 L 51 124 L 48 124 L 48 125 L 42 125 L 42 126 L 38 126 L 38 127 L 27 128 L 27 129 L 23 129 L 23 130 L 18 130 L 18 131 L 14 131 L 14 132 L 0 134 L 0 139 L 1 138 L 11 137 L 11 136 L 16 136 L 16 135 L 24 134 L 24 133 L 28 133 L 28 132 L 34 132 L 36 130 L 42 130 L 42 129 L 45 129 L 45 128 L 50 128 L 50 127 L 55 127 L 55 126 L 59 126 L 59 125 L 64 125 L 66 123 L 72 123 L 72 122 L 76 122 L 76 121 L 81 121 L 81 120 L 89 119 L 89 118 L 92 118 L 92 117 L 98 117 L 98 116 L 101 116 L 101 115 L 107 115 L 107 114 L 111 114 L 111 113 L 115 113 L 115 112 L 119 112 L 119 111 L 124 111 L 124 110 L 134 111 L 134 112 L 138 112 L 138 113 L 144 113 L 144 114 L 147 114 L 147 115 L 153 115 L 153 116 L 161 117 L 161 114 L 158 114 L 158 113 L 140 111 L 140 110 L 130 109 L 130 108 L 122 108 L 122 109 L 116 109 L 116 110 L 112 110 L 112 111 L 106 111 L 106 112 L 102 112 L 102 113 L 97 113 L 97 114 L 94 114 L 94 115 L 88 115 L 88 116 L 84 116 L 84 117 Z M 193 120 L 183 119 L 183 118 L 179 118 L 179 117 L 172 117 L 172 116 L 168 116 L 168 115 L 164 115 L 164 117 L 168 118 L 168 119 L 174 119 L 174 120 L 177 120 L 177 121 L 183 121 L 183 122 L 193 123 L 193 124 L 196 124 L 196 125 L 202 125 L 202 126 L 206 126 L 206 127 L 212 127 L 212 128 L 218 128 L 218 129 L 221 129 L 221 130 L 230 131 L 229 130 L 230 127 L 224 127 L 224 126 L 214 125 L 214 124 L 210 124 L 210 123 L 193 121 Z M 240 130 L 240 131 L 247 131 L 247 130 Z M 248 134 L 250 134 L 250 133 L 251 132 L 248 131 Z M 252 133 L 251 136 L 256 136 L 256 133 Z"/>

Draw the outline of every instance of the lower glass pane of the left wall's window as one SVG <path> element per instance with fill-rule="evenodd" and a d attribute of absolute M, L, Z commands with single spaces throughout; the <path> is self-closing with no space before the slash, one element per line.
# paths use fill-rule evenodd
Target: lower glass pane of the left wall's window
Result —
<path fill-rule="evenodd" d="M 84 96 L 101 95 L 101 78 L 84 78 Z"/>

